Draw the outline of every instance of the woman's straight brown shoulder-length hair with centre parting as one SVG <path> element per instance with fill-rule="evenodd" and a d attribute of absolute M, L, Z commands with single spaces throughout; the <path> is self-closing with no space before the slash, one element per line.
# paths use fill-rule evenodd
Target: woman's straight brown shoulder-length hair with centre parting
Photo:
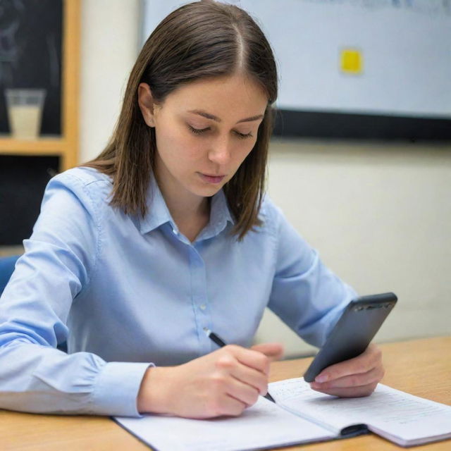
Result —
<path fill-rule="evenodd" d="M 140 82 L 146 82 L 154 100 L 161 103 L 180 85 L 237 71 L 259 82 L 268 106 L 252 152 L 223 189 L 235 217 L 233 233 L 239 239 L 260 224 L 257 216 L 273 123 L 271 104 L 277 97 L 276 63 L 271 46 L 249 14 L 213 0 L 181 6 L 159 23 L 132 68 L 109 144 L 97 158 L 82 165 L 112 176 L 112 206 L 125 214 L 147 213 L 156 140 L 154 128 L 144 122 L 138 106 Z"/>

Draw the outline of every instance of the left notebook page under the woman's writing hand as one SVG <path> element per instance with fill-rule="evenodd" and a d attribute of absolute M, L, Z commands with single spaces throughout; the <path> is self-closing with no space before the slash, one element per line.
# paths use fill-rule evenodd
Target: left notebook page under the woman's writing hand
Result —
<path fill-rule="evenodd" d="M 175 416 L 116 416 L 133 435 L 159 451 L 243 451 L 333 438 L 329 431 L 286 412 L 264 397 L 242 415 L 194 420 Z"/>

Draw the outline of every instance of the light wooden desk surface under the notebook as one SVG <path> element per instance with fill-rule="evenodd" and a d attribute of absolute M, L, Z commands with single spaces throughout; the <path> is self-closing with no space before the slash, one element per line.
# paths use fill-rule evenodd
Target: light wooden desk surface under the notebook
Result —
<path fill-rule="evenodd" d="M 451 337 L 381 345 L 387 373 L 383 383 L 393 388 L 451 405 Z M 302 375 L 311 359 L 276 362 L 271 381 Z M 283 450 L 387 451 L 401 450 L 377 435 L 316 443 Z M 413 448 L 445 451 L 451 440 Z M 0 450 L 139 451 L 149 450 L 111 419 L 96 416 L 52 416 L 0 411 Z"/>

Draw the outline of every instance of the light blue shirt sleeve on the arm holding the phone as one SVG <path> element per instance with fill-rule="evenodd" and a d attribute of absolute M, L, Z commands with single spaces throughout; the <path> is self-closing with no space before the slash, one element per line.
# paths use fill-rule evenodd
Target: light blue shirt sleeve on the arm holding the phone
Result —
<path fill-rule="evenodd" d="M 318 252 L 276 216 L 276 272 L 268 307 L 311 345 L 321 346 L 356 292 L 329 268 Z"/>

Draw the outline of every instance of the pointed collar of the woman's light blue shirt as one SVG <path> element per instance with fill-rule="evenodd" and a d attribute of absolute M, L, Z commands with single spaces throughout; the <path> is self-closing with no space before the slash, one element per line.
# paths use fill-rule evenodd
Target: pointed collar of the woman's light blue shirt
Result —
<path fill-rule="evenodd" d="M 165 223 L 170 223 L 173 230 L 178 232 L 178 227 L 168 210 L 163 194 L 161 194 L 158 183 L 156 183 L 153 175 L 147 188 L 146 205 L 147 214 L 144 218 L 140 218 L 140 232 L 143 235 L 144 233 L 149 233 L 159 228 Z M 199 234 L 196 241 L 206 240 L 209 237 L 218 235 L 218 233 L 221 233 L 226 228 L 228 222 L 235 223 L 228 208 L 226 194 L 221 190 L 211 198 L 210 221 Z"/>

